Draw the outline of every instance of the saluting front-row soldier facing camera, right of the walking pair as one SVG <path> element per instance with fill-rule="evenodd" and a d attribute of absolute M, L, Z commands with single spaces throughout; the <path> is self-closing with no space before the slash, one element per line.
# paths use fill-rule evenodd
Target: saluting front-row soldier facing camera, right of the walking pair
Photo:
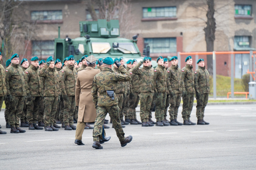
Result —
<path fill-rule="evenodd" d="M 140 66 L 143 64 L 143 68 Z M 154 71 L 151 70 L 149 59 L 144 57 L 133 69 L 132 73 L 139 76 L 140 119 L 142 127 L 154 126 L 149 122 L 150 106 L 154 95 Z"/>

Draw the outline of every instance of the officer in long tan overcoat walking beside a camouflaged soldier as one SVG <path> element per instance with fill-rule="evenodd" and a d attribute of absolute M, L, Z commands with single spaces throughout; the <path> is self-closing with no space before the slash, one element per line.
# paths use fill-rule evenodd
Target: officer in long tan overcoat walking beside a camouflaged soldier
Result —
<path fill-rule="evenodd" d="M 78 106 L 78 122 L 76 126 L 75 143 L 77 145 L 84 145 L 82 143 L 82 134 L 87 122 L 94 122 L 97 116 L 96 109 L 92 102 L 92 82 L 94 76 L 100 72 L 100 69 L 94 69 L 97 59 L 91 55 L 86 58 L 87 67 L 78 71 L 76 80 L 76 106 Z M 102 134 L 101 143 L 108 141 L 110 137 L 105 137 Z"/>

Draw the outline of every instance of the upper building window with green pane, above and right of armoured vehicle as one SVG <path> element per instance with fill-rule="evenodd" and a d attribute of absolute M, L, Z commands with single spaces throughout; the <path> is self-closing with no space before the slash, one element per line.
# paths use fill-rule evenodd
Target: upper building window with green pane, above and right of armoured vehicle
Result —
<path fill-rule="evenodd" d="M 176 6 L 143 8 L 143 18 L 176 17 Z"/>

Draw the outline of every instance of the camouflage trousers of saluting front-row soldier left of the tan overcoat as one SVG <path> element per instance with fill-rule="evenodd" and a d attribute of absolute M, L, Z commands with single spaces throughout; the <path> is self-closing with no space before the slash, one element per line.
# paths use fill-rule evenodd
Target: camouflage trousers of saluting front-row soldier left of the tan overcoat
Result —
<path fill-rule="evenodd" d="M 44 97 L 44 126 L 53 125 L 58 97 Z"/>

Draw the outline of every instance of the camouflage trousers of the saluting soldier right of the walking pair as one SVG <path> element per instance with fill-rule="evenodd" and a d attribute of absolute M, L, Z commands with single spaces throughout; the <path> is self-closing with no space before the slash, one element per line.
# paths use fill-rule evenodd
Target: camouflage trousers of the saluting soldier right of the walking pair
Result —
<path fill-rule="evenodd" d="M 142 122 L 148 121 L 150 106 L 153 100 L 154 93 L 142 92 L 139 94 L 140 97 L 140 119 Z"/>

